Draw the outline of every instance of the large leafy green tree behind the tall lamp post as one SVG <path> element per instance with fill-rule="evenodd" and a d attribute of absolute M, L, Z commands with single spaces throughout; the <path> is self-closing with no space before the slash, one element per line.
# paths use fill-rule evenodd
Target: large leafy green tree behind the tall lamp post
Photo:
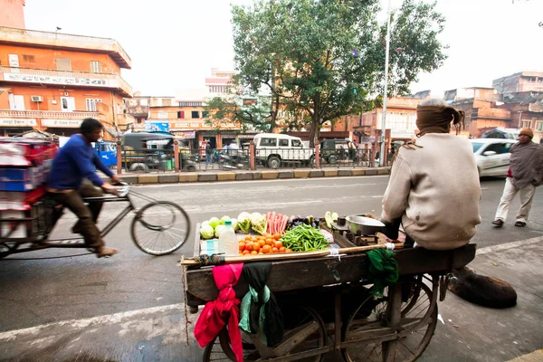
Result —
<path fill-rule="evenodd" d="M 378 0 L 268 0 L 233 6 L 237 80 L 271 92 L 272 109 L 306 117 L 310 145 L 327 121 L 373 108 L 385 73 L 386 23 Z M 437 39 L 443 16 L 405 0 L 392 14 L 389 95 L 409 92 L 421 71 L 446 56 Z"/>

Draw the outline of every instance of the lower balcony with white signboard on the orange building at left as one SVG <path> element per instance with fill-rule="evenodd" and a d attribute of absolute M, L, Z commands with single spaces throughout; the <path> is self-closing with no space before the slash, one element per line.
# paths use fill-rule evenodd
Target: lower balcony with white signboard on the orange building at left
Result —
<path fill-rule="evenodd" d="M 123 97 L 132 97 L 129 83 L 111 73 L 0 66 L 0 81 L 108 88 L 119 90 Z"/>

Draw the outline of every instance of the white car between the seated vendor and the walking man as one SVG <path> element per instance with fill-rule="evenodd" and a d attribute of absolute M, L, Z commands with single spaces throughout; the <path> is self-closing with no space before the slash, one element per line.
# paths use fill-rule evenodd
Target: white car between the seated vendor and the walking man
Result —
<path fill-rule="evenodd" d="M 510 167 L 510 149 L 517 141 L 505 138 L 470 139 L 479 176 L 506 176 Z"/>

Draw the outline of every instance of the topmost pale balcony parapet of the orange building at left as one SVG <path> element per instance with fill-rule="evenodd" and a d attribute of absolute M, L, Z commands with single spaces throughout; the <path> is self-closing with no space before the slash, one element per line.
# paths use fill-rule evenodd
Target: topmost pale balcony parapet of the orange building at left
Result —
<path fill-rule="evenodd" d="M 41 32 L 0 26 L 0 43 L 24 43 L 26 45 L 34 44 L 48 48 L 107 53 L 110 54 L 111 59 L 117 62 L 121 68 L 132 68 L 132 60 L 129 54 L 122 49 L 116 40 L 109 38 Z"/>

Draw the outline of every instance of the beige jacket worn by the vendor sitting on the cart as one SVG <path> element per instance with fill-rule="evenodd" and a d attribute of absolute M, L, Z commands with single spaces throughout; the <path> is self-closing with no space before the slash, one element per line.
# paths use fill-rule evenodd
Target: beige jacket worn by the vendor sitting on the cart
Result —
<path fill-rule="evenodd" d="M 402 217 L 405 233 L 426 249 L 455 249 L 470 242 L 481 224 L 481 185 L 472 144 L 429 133 L 423 148 L 400 148 L 383 199 L 384 222 Z"/>

